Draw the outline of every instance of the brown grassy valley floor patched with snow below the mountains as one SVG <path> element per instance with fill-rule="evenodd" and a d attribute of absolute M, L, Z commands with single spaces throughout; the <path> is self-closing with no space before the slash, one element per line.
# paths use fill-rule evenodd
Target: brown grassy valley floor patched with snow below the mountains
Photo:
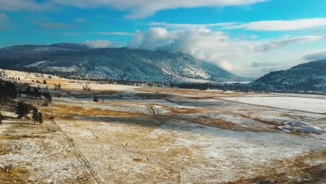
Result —
<path fill-rule="evenodd" d="M 326 182 L 323 96 L 47 82 L 42 125 L 1 109 L 0 183 Z"/>

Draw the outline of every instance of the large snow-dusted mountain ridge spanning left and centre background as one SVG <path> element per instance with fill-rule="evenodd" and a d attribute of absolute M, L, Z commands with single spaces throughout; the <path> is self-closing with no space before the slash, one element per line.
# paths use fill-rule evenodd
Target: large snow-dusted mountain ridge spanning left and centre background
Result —
<path fill-rule="evenodd" d="M 188 54 L 127 48 L 91 49 L 86 45 L 67 43 L 2 48 L 0 68 L 85 79 L 144 81 L 243 79 Z"/>

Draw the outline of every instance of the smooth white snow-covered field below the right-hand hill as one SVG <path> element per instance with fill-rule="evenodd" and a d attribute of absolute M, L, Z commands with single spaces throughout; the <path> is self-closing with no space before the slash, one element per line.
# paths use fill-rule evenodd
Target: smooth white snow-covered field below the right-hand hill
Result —
<path fill-rule="evenodd" d="M 298 110 L 304 112 L 326 113 L 326 100 L 320 98 L 300 97 L 251 97 L 251 98 L 222 98 L 235 102 L 262 105 L 282 109 Z"/>

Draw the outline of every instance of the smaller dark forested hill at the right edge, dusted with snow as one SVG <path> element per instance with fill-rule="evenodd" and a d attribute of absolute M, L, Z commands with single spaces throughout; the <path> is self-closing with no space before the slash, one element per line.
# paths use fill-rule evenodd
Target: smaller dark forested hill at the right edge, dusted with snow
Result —
<path fill-rule="evenodd" d="M 326 90 L 326 60 L 303 63 L 289 70 L 270 72 L 251 83 L 267 90 Z"/>

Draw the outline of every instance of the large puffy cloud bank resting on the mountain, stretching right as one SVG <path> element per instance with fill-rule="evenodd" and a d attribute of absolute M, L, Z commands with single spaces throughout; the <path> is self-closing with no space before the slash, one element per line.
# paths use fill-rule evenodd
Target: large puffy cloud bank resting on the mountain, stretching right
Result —
<path fill-rule="evenodd" d="M 284 59 L 290 53 L 293 53 L 288 51 L 288 54 L 286 54 L 288 48 L 280 50 L 281 47 L 296 46 L 323 38 L 323 36 L 299 36 L 293 38 L 286 36 L 276 40 L 247 40 L 233 39 L 222 31 L 212 31 L 203 27 L 172 31 L 162 27 L 154 27 L 147 31 L 137 31 L 128 47 L 185 52 L 199 59 L 217 63 L 226 70 L 240 73 L 243 70 L 257 70 L 257 67 L 255 68 L 251 63 L 255 61 L 261 62 L 265 57 L 273 60 L 275 57 L 272 57 L 272 55 L 277 55 L 277 52 L 281 53 Z M 300 47 L 302 46 L 300 45 Z M 284 62 L 284 59 L 281 61 Z M 279 66 L 285 65 L 279 63 Z M 265 66 L 265 68 L 258 68 L 258 70 L 271 70 L 270 68 L 276 67 Z M 256 73 L 261 74 L 258 71 Z"/>

